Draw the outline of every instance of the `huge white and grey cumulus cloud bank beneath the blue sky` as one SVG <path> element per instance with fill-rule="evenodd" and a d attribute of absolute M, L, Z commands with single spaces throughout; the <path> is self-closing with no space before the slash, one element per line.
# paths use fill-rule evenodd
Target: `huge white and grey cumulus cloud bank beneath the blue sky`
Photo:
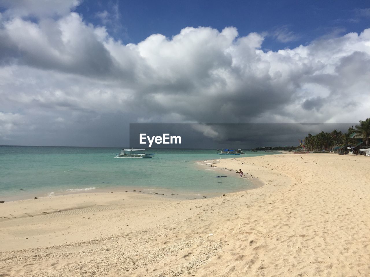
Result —
<path fill-rule="evenodd" d="M 17 123 L 27 130 L 22 135 L 6 129 L 14 143 L 32 137 L 40 145 L 63 130 L 70 145 L 104 146 L 107 136 L 98 127 L 112 134 L 129 122 L 369 117 L 370 29 L 276 52 L 262 50 L 263 34 L 242 37 L 235 27 L 186 27 L 171 38 L 152 34 L 125 45 L 71 11 L 78 1 L 58 2 L 58 17 L 50 17 L 56 6 L 25 8 L 37 21 L 12 3 L 1 2 L 7 10 L 0 17 L 0 112 L 27 119 Z M 280 34 L 282 41 L 294 38 Z M 2 126 L 12 122 L 4 117 Z"/>

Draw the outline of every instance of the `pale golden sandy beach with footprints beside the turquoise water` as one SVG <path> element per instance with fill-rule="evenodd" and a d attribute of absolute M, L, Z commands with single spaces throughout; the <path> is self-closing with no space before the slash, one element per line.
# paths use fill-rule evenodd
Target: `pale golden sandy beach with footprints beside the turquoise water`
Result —
<path fill-rule="evenodd" d="M 217 166 L 263 187 L 185 201 L 105 192 L 6 202 L 0 276 L 370 276 L 369 165 L 239 156 Z"/>

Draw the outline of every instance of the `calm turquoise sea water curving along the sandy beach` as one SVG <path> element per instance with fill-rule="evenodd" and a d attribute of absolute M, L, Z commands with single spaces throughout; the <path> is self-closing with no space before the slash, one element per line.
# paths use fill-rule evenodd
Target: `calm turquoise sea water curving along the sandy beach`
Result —
<path fill-rule="evenodd" d="M 0 200 L 104 189 L 136 189 L 194 197 L 243 190 L 252 184 L 234 172 L 195 161 L 235 156 L 216 150 L 152 149 L 150 159 L 113 158 L 120 148 L 0 146 Z M 269 154 L 250 153 L 242 156 Z M 237 157 L 242 157 L 237 156 Z M 231 178 L 215 178 L 227 175 Z M 200 195 L 200 196 L 202 196 Z"/>

